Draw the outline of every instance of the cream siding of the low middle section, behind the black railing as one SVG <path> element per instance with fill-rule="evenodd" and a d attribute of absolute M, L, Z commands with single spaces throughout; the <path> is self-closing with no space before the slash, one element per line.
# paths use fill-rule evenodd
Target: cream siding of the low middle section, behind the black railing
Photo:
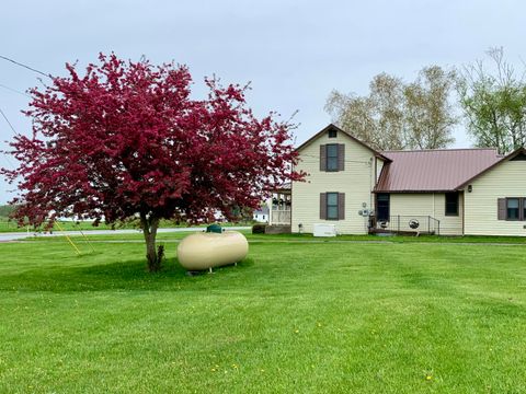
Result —
<path fill-rule="evenodd" d="M 404 193 L 390 195 L 390 215 L 407 217 L 427 217 L 431 216 L 441 221 L 441 235 L 461 235 L 462 234 L 462 194 L 458 199 L 458 216 L 446 216 L 446 196 L 444 193 Z M 407 229 L 404 219 L 404 227 Z M 416 218 L 419 221 L 425 218 Z M 427 229 L 427 223 L 422 223 Z M 425 225 L 424 225 L 425 224 Z"/>

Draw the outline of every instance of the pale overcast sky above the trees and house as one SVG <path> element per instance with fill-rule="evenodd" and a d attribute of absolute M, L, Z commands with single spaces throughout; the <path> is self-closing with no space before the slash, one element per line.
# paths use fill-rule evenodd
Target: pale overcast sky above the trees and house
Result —
<path fill-rule="evenodd" d="M 516 0 L 133 1 L 3 0 L 0 55 L 53 74 L 66 61 L 94 61 L 99 51 L 190 67 L 195 92 L 203 78 L 252 81 L 256 114 L 296 109 L 297 142 L 329 121 L 332 89 L 365 94 L 386 71 L 412 80 L 423 66 L 461 66 L 503 46 L 512 62 L 524 53 L 526 2 Z M 19 132 L 20 111 L 37 74 L 0 60 L 0 108 Z M 2 86 L 3 85 L 3 86 Z M 0 118 L 0 138 L 12 131 Z M 470 142 L 460 127 L 456 147 Z M 4 147 L 2 142 L 2 147 Z M 0 155 L 2 166 L 10 165 Z M 11 198 L 0 181 L 0 204 Z"/>

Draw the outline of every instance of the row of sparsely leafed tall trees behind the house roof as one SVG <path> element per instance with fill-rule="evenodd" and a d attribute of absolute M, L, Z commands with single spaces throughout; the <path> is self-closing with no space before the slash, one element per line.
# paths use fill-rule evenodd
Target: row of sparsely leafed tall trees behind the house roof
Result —
<path fill-rule="evenodd" d="M 502 48 L 462 68 L 422 68 L 412 82 L 380 73 L 369 93 L 332 91 L 333 121 L 379 150 L 449 147 L 462 120 L 476 147 L 510 152 L 526 144 L 526 81 Z"/>

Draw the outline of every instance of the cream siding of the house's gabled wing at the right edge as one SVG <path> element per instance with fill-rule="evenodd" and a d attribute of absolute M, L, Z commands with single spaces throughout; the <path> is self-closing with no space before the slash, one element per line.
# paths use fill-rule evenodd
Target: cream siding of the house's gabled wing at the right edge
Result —
<path fill-rule="evenodd" d="M 466 234 L 526 236 L 526 221 L 498 220 L 498 199 L 526 197 L 526 161 L 499 164 L 465 189 Z"/>

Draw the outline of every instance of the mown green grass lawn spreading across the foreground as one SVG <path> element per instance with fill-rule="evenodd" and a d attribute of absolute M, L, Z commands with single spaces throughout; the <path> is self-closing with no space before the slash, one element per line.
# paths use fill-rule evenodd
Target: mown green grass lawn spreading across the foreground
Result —
<path fill-rule="evenodd" d="M 139 236 L 0 244 L 0 393 L 526 392 L 524 245 L 253 235 L 187 277 Z"/>

